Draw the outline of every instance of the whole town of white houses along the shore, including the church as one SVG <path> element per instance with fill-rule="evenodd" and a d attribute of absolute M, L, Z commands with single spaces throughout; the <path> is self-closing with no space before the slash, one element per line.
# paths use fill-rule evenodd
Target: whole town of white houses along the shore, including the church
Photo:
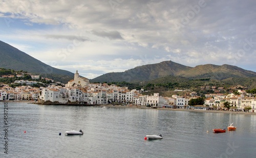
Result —
<path fill-rule="evenodd" d="M 38 76 L 39 77 L 39 76 Z M 51 79 L 48 79 L 52 81 Z M 13 100 L 33 100 L 39 103 L 60 103 L 60 104 L 123 104 L 151 107 L 169 107 L 169 108 L 188 108 L 190 99 L 199 98 L 196 92 L 186 92 L 184 96 L 173 95 L 172 97 L 162 97 L 159 93 L 153 95 L 142 95 L 143 89 L 129 90 L 128 87 L 120 87 L 115 84 L 90 83 L 89 79 L 79 76 L 78 71 L 74 79 L 70 80 L 65 86 L 51 84 L 48 87 L 33 87 L 34 81 L 15 81 L 15 83 L 26 83 L 27 85 L 17 86 L 15 88 L 8 84 L 2 84 L 0 87 L 0 101 Z M 220 93 L 222 87 L 201 86 L 201 89 L 214 88 L 215 93 L 206 94 L 204 105 L 195 106 L 194 109 L 216 109 L 226 110 L 224 103 L 228 102 L 231 109 L 237 111 L 256 112 L 256 98 L 247 94 L 245 91 L 238 90 L 239 95 L 230 92 L 228 95 Z M 182 91 L 182 90 L 176 90 Z"/>

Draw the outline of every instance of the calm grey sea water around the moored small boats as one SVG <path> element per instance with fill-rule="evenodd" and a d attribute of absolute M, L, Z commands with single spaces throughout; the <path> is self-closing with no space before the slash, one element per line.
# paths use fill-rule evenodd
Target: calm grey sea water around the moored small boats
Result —
<path fill-rule="evenodd" d="M 1 128 L 4 104 L 1 105 Z M 255 157 L 256 116 L 156 109 L 8 103 L 8 155 L 0 157 Z M 82 129 L 82 136 L 65 136 Z M 208 133 L 206 131 L 209 131 Z M 26 131 L 26 133 L 24 132 Z M 61 132 L 61 136 L 59 136 Z M 162 140 L 144 140 L 146 134 Z"/>

